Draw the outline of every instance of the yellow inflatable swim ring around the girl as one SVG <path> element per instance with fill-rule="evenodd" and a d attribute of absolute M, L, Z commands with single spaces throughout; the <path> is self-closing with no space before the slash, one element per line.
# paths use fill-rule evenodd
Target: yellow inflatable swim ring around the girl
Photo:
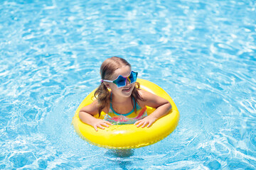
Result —
<path fill-rule="evenodd" d="M 171 99 L 171 97 L 156 84 L 146 81 L 144 79 L 137 79 L 141 85 L 141 89 L 149 91 L 153 94 L 166 98 L 171 103 L 171 111 L 164 117 L 156 120 L 150 128 L 137 128 L 136 125 L 112 125 L 110 128 L 105 128 L 95 131 L 92 126 L 82 123 L 79 118 L 79 111 L 82 107 L 92 103 L 95 91 L 92 91 L 86 98 L 80 103 L 75 116 L 73 117 L 73 125 L 75 131 L 78 132 L 80 137 L 90 142 L 92 145 L 99 147 L 105 147 L 110 149 L 132 149 L 138 147 L 145 147 L 147 145 L 154 144 L 163 140 L 171 132 L 174 131 L 178 125 L 179 113 L 178 109 Z M 147 114 L 151 114 L 155 109 L 147 107 Z M 101 113 L 100 118 L 103 118 Z M 98 118 L 98 115 L 95 116 Z"/>

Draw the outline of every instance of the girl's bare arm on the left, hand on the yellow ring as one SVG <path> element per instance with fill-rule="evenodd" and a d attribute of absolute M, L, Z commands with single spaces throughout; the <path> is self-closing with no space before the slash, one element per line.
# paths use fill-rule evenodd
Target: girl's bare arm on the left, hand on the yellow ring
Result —
<path fill-rule="evenodd" d="M 79 112 L 79 118 L 83 123 L 91 125 L 93 128 L 95 128 L 96 131 L 97 128 L 105 129 L 104 126 L 107 128 L 110 127 L 109 125 L 112 124 L 107 120 L 93 117 L 94 115 L 97 115 L 98 111 L 97 101 L 93 101 L 90 105 L 81 108 Z"/>

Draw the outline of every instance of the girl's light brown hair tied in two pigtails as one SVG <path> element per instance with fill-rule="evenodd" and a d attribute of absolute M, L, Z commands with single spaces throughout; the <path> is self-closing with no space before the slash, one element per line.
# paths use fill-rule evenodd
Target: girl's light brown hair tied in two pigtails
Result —
<path fill-rule="evenodd" d="M 110 57 L 104 62 L 102 62 L 102 65 L 100 67 L 100 76 L 101 79 L 111 79 L 112 75 L 114 74 L 114 71 L 119 69 L 123 66 L 129 66 L 131 67 L 131 64 L 127 62 L 127 60 L 124 60 L 121 57 Z M 132 98 L 134 98 L 135 102 L 137 103 L 139 100 L 144 101 L 142 96 L 139 95 L 139 83 L 135 82 L 134 89 L 132 90 Z M 105 108 L 110 103 L 110 91 L 107 89 L 107 86 L 101 82 L 100 86 L 95 91 L 95 98 L 97 98 L 98 102 L 98 109 L 99 109 L 99 117 L 100 113 L 102 112 L 102 109 Z M 131 98 L 131 100 L 132 100 Z M 132 106 L 134 108 L 135 113 L 137 113 L 136 103 L 133 103 L 132 100 Z"/>

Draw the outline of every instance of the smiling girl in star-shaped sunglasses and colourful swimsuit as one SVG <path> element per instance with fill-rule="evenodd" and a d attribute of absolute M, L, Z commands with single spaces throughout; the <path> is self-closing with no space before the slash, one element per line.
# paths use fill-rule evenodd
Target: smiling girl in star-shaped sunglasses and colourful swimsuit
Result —
<path fill-rule="evenodd" d="M 108 128 L 112 123 L 134 123 L 138 128 L 149 128 L 171 109 L 171 103 L 166 99 L 139 89 L 137 72 L 132 71 L 131 65 L 120 57 L 105 60 L 100 67 L 100 75 L 101 84 L 95 91 L 97 100 L 79 112 L 80 120 L 96 131 L 97 128 Z M 146 106 L 156 110 L 146 115 Z M 93 117 L 102 111 L 107 113 L 103 120 Z"/>

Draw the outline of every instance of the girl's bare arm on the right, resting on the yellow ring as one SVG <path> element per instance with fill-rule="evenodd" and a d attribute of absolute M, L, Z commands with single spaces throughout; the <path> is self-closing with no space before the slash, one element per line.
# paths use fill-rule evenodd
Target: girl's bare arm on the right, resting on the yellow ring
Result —
<path fill-rule="evenodd" d="M 136 123 L 134 123 L 134 125 L 137 125 L 137 127 L 142 126 L 142 128 L 147 125 L 147 128 L 149 128 L 156 120 L 166 115 L 166 113 L 171 110 L 171 103 L 160 96 L 149 93 L 148 91 L 139 90 L 139 93 L 145 100 L 140 101 L 140 105 L 156 108 L 156 111 L 146 116 L 142 120 L 138 120 Z"/>

